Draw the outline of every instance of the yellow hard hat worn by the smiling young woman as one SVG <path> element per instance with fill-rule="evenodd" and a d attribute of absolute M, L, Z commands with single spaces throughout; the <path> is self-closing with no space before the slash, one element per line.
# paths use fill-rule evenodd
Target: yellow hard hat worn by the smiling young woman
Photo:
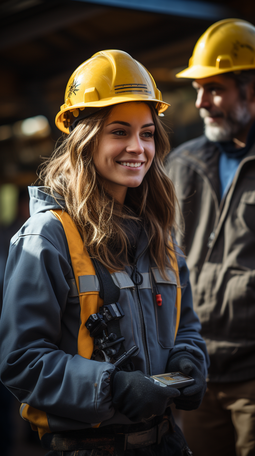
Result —
<path fill-rule="evenodd" d="M 151 101 L 158 114 L 169 106 L 162 102 L 151 74 L 127 52 L 115 49 L 97 52 L 72 73 L 65 104 L 56 116 L 56 126 L 69 133 L 68 127 L 76 118 L 82 119 L 103 106 L 127 101 Z"/>

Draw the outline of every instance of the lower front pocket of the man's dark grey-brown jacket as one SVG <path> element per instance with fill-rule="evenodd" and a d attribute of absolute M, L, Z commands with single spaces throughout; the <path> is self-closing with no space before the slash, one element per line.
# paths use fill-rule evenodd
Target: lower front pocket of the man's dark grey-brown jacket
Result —
<path fill-rule="evenodd" d="M 255 271 L 205 263 L 194 297 L 203 337 L 230 342 L 255 338 Z"/>

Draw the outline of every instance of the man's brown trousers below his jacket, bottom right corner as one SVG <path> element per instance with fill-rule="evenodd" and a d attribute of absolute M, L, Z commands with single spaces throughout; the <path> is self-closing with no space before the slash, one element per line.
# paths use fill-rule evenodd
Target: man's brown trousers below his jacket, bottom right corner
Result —
<path fill-rule="evenodd" d="M 255 380 L 209 382 L 199 409 L 182 418 L 194 456 L 255 456 Z"/>

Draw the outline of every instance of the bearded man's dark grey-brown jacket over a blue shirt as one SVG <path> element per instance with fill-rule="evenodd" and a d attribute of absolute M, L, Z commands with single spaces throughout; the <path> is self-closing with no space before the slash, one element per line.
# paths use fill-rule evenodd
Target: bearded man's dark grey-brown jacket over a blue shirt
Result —
<path fill-rule="evenodd" d="M 220 201 L 219 149 L 201 136 L 168 155 L 184 216 L 194 310 L 213 382 L 255 378 L 255 145 Z"/>

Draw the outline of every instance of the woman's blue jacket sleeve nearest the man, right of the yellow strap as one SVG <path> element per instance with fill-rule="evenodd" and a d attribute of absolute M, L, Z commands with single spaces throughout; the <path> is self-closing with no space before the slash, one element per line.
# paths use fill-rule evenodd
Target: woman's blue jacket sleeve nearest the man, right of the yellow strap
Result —
<path fill-rule="evenodd" d="M 178 354 L 185 352 L 196 358 L 204 377 L 207 376 L 209 368 L 209 355 L 203 337 L 199 334 L 201 324 L 197 314 L 193 310 L 191 287 L 189 283 L 189 269 L 182 252 L 179 250 L 177 260 L 179 265 L 179 276 L 182 287 L 181 315 L 178 332 L 174 347 L 170 350 L 168 362 Z M 177 252 L 178 253 L 178 252 Z"/>

